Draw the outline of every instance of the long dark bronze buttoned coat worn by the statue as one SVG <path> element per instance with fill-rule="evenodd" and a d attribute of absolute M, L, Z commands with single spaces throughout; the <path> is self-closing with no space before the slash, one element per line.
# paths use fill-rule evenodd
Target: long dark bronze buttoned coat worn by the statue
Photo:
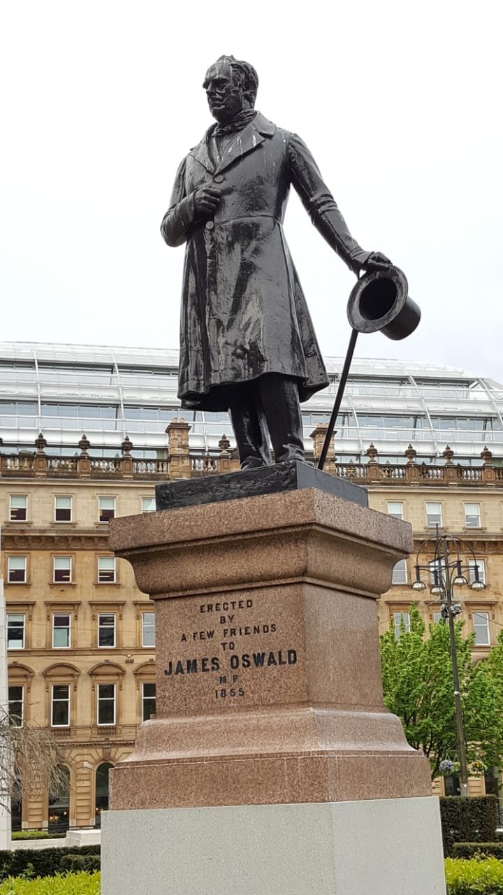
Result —
<path fill-rule="evenodd" d="M 294 376 L 301 401 L 328 385 L 303 290 L 283 232 L 290 185 L 313 224 L 355 271 L 363 252 L 309 149 L 257 113 L 215 166 L 210 128 L 179 167 L 161 233 L 186 244 L 178 396 L 185 407 L 226 410 L 225 388 L 275 372 Z M 197 219 L 193 196 L 221 200 Z"/>

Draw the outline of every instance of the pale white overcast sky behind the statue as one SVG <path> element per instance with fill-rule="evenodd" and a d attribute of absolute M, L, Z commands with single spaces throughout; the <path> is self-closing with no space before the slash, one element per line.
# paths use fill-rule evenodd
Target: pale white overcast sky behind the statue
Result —
<path fill-rule="evenodd" d="M 183 248 L 159 224 L 225 53 L 422 308 L 357 354 L 501 381 L 502 19 L 499 0 L 4 0 L 0 340 L 178 345 Z M 323 353 L 345 354 L 354 275 L 294 195 L 286 238 Z"/>

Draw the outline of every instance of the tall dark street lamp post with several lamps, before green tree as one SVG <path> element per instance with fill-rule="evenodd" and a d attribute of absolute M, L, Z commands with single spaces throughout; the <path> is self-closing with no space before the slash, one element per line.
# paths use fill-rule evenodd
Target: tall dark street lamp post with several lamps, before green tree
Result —
<path fill-rule="evenodd" d="M 459 671 L 457 667 L 456 652 L 456 631 L 455 618 L 461 612 L 459 603 L 453 601 L 454 586 L 462 587 L 468 584 L 468 577 L 473 572 L 473 581 L 470 584 L 472 590 L 482 590 L 485 586 L 479 576 L 479 567 L 475 559 L 475 554 L 466 541 L 456 538 L 454 534 L 440 534 L 439 526 L 436 526 L 437 532 L 435 537 L 422 541 L 416 555 L 415 564 L 415 581 L 412 584 L 414 591 L 426 590 L 426 584 L 421 579 L 421 573 L 427 571 L 433 577 L 433 586 L 431 594 L 440 598 L 440 614 L 442 621 L 448 621 L 449 626 L 449 645 L 450 656 L 452 662 L 452 680 L 454 685 L 454 712 L 456 719 L 456 746 L 457 758 L 459 761 L 459 779 L 461 795 L 468 796 L 468 768 L 466 763 L 466 737 L 465 737 L 465 720 L 463 718 L 463 705 L 461 703 L 461 692 L 459 689 Z M 428 550 L 429 545 L 434 544 L 435 549 L 433 558 L 427 566 L 421 566 L 419 563 L 420 553 Z M 463 564 L 460 558 L 460 547 L 465 552 L 471 553 L 473 557 L 473 565 Z"/>

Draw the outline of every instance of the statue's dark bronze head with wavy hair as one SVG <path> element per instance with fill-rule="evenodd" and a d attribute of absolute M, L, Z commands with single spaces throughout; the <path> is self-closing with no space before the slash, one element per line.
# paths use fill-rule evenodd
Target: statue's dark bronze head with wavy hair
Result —
<path fill-rule="evenodd" d="M 243 109 L 254 107 L 259 76 L 250 63 L 224 55 L 209 66 L 202 86 L 211 115 L 226 124 Z"/>

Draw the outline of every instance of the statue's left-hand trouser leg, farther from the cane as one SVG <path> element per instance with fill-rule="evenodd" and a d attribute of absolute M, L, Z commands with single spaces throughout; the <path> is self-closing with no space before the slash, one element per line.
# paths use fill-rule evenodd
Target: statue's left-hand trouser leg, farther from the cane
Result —
<path fill-rule="evenodd" d="M 242 469 L 272 463 L 266 418 L 256 382 L 236 388 L 229 404 L 237 452 Z"/>

